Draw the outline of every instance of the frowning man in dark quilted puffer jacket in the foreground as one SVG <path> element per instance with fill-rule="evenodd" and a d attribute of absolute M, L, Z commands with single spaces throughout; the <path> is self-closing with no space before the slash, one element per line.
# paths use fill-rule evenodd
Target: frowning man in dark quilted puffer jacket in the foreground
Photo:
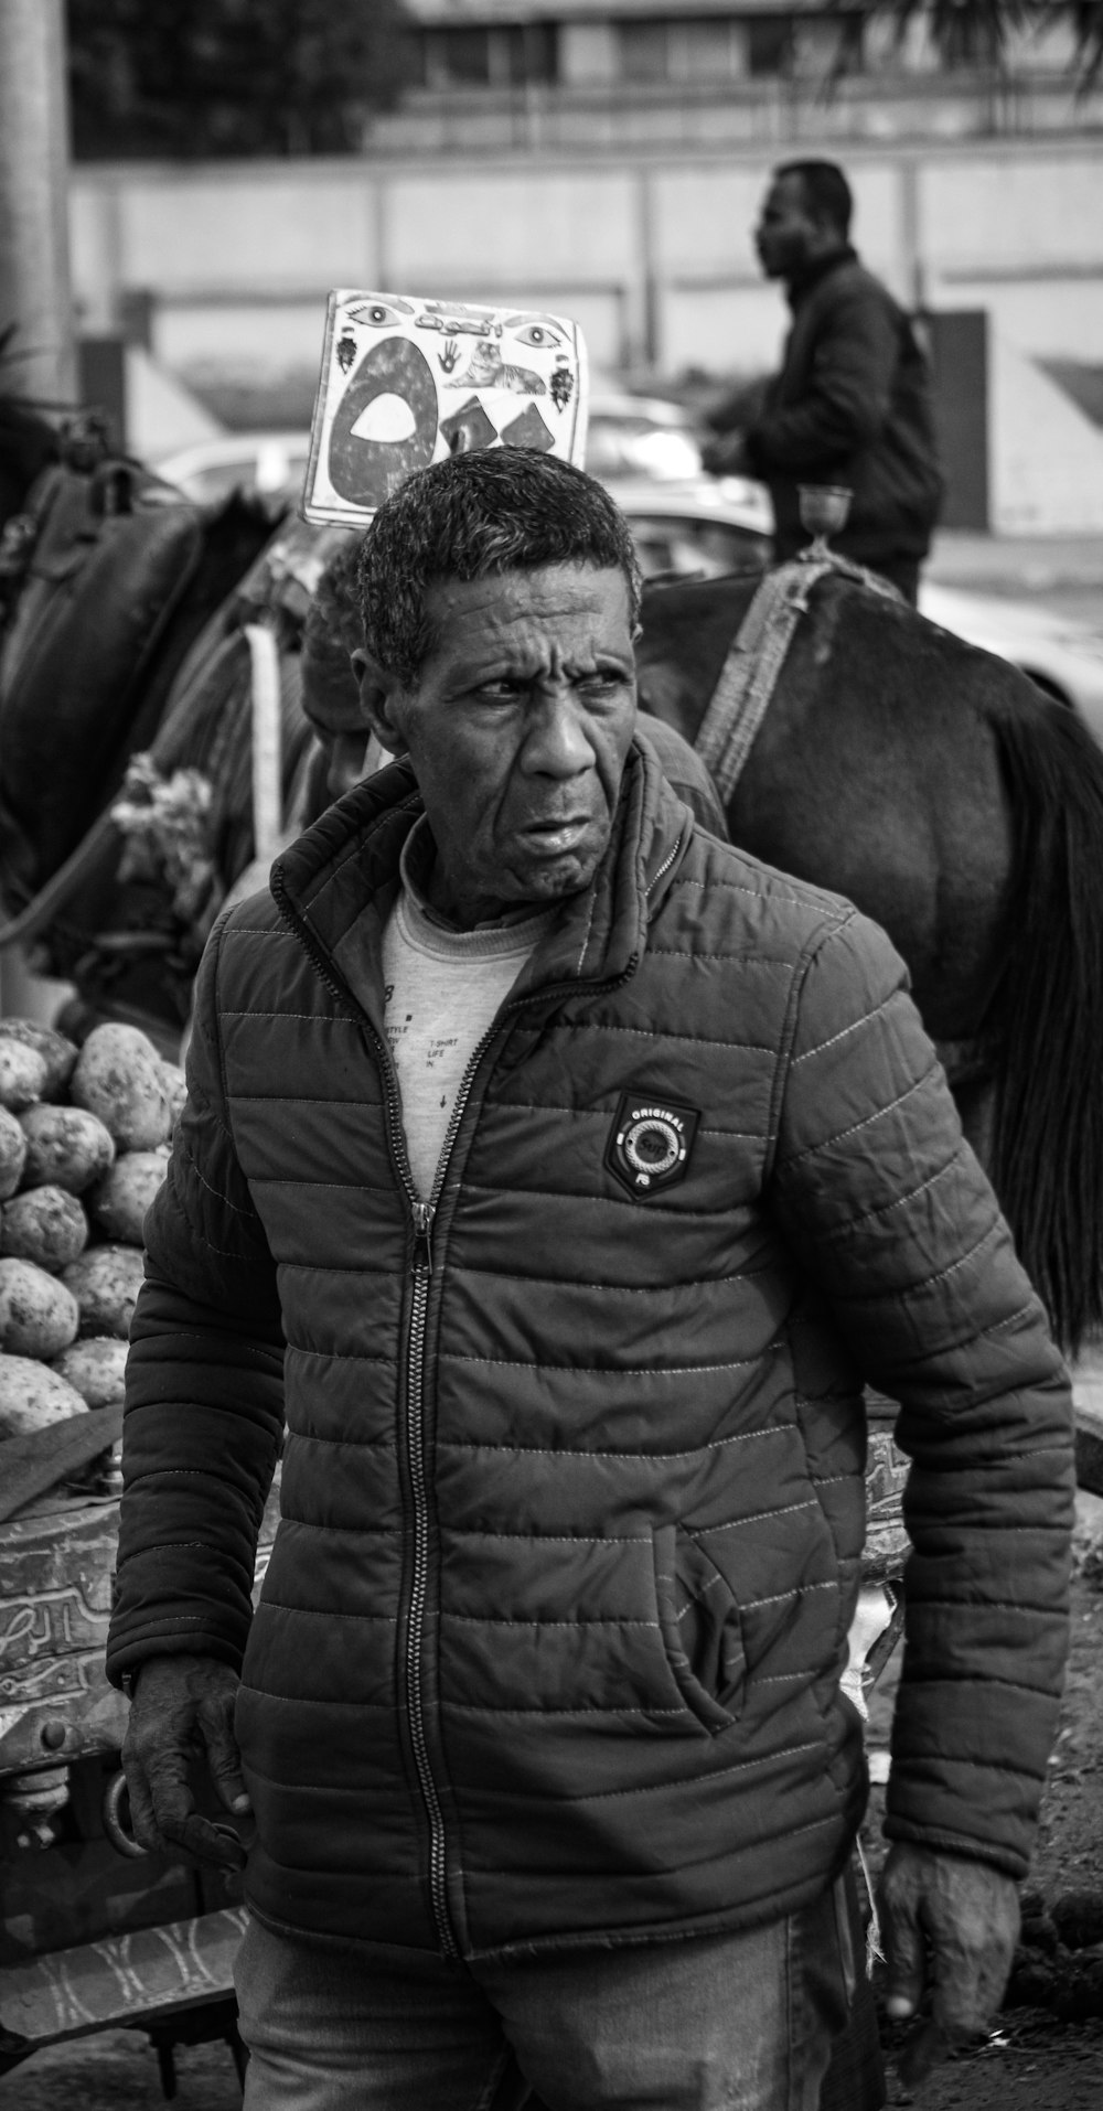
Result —
<path fill-rule="evenodd" d="M 249 2111 L 811 2111 L 866 1796 L 862 1383 L 909 1452 L 890 2005 L 976 2029 L 1067 1628 L 1061 1359 L 883 933 L 693 825 L 581 471 L 363 547 L 401 760 L 230 912 L 148 1235 L 110 1676 L 139 1839 L 256 1815 Z M 281 1524 L 251 1611 L 283 1440 Z M 930 1953 L 928 1953 L 930 1944 Z"/>

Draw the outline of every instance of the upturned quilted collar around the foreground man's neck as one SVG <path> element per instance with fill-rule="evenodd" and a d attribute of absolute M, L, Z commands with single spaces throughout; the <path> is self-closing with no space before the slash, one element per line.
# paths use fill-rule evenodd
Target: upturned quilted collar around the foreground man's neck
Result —
<path fill-rule="evenodd" d="M 423 811 L 410 764 L 395 762 L 330 806 L 273 866 L 281 914 L 315 963 L 321 956 L 344 984 L 349 942 L 359 958 L 368 948 L 378 965 L 401 849 Z M 666 783 L 653 749 L 634 739 L 602 863 L 581 895 L 564 899 L 516 994 L 632 973 L 691 834 L 689 809 Z"/>

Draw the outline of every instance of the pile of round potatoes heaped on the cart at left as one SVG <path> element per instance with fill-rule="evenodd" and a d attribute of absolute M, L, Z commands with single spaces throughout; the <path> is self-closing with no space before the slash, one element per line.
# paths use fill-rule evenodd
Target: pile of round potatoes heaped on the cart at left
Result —
<path fill-rule="evenodd" d="M 0 1440 L 123 1397 L 184 1072 L 137 1026 L 0 1020 Z"/>

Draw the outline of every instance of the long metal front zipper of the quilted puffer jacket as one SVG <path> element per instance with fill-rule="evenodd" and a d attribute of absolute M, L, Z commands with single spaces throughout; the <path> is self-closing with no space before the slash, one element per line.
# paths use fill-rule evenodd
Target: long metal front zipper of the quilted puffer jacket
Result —
<path fill-rule="evenodd" d="M 655 887 L 661 880 L 663 872 L 670 870 L 674 857 L 678 855 L 678 849 L 680 849 L 680 836 L 674 849 L 670 851 L 668 859 L 659 866 L 655 878 L 651 880 L 651 887 Z M 309 929 L 309 925 L 302 923 L 298 912 L 287 901 L 283 876 L 279 872 L 273 872 L 270 885 L 279 914 L 292 927 L 315 973 L 321 977 L 325 988 L 340 999 L 340 1003 L 353 1007 L 353 1011 L 359 1015 L 366 1032 L 372 1039 L 372 1045 L 380 1062 L 382 1089 L 387 1096 L 387 1129 L 391 1136 L 391 1153 L 401 1180 L 401 1188 L 406 1193 L 406 1201 L 410 1203 L 414 1252 L 410 1260 L 412 1292 L 410 1292 L 410 1330 L 406 1340 L 404 1440 L 406 1440 L 406 1467 L 410 1473 L 410 1488 L 414 1499 L 414 1577 L 410 1587 L 410 1617 L 406 1625 L 404 1685 L 406 1685 L 406 1716 L 410 1723 L 410 1744 L 414 1750 L 414 1767 L 418 1775 L 420 1801 L 429 1824 L 429 1898 L 433 1904 L 433 1919 L 437 1925 L 437 1940 L 442 1953 L 450 1959 L 459 1959 L 459 1942 L 452 1929 L 452 1913 L 448 1906 L 444 1811 L 437 1794 L 437 1784 L 433 1777 L 429 1739 L 425 1735 L 425 1706 L 420 1691 L 425 1600 L 429 1592 L 429 1476 L 425 1469 L 425 1332 L 429 1317 L 429 1286 L 433 1275 L 433 1218 L 437 1214 L 437 1201 L 448 1174 L 448 1159 L 452 1155 L 452 1144 L 456 1140 L 459 1125 L 467 1110 L 467 1100 L 471 1098 L 471 1085 L 475 1081 L 475 1072 L 484 1058 L 486 1047 L 497 1034 L 501 1020 L 509 1011 L 522 1011 L 528 999 L 513 999 L 513 1003 L 503 1005 L 503 1009 L 494 1018 L 494 1024 L 484 1032 L 473 1056 L 469 1058 L 456 1091 L 452 1112 L 448 1117 L 448 1129 L 444 1134 L 444 1146 L 437 1161 L 433 1191 L 429 1195 L 429 1201 L 423 1201 L 414 1186 L 414 1176 L 410 1172 L 410 1155 L 406 1150 L 406 1131 L 401 1127 L 397 1074 L 391 1060 L 391 1049 L 372 1026 L 372 1020 L 363 1011 L 363 1005 L 357 1001 L 349 984 L 332 971 L 330 961 L 323 948 L 315 942 L 315 935 Z M 651 893 L 651 887 L 647 889 L 647 893 Z M 632 954 L 632 958 L 628 961 L 628 965 L 621 969 L 619 975 L 613 975 L 604 984 L 594 984 L 592 994 L 604 994 L 606 990 L 619 988 L 621 982 L 630 980 L 636 965 L 638 965 L 638 952 Z M 577 982 L 554 984 L 547 990 L 541 990 L 539 999 L 545 1003 L 552 996 L 560 994 L 568 996 L 577 988 L 579 988 Z"/>

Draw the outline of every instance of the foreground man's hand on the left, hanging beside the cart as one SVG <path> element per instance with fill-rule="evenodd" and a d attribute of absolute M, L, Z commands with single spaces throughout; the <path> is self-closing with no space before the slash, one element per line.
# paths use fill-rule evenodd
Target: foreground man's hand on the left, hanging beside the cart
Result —
<path fill-rule="evenodd" d="M 230 1826 L 201 1818 L 188 1765 L 207 1765 L 235 1818 L 249 1811 L 235 1739 L 237 1672 L 213 1657 L 150 1657 L 135 1678 L 123 1767 L 133 1834 L 150 1853 L 182 1847 L 197 1862 L 243 1868 Z"/>

